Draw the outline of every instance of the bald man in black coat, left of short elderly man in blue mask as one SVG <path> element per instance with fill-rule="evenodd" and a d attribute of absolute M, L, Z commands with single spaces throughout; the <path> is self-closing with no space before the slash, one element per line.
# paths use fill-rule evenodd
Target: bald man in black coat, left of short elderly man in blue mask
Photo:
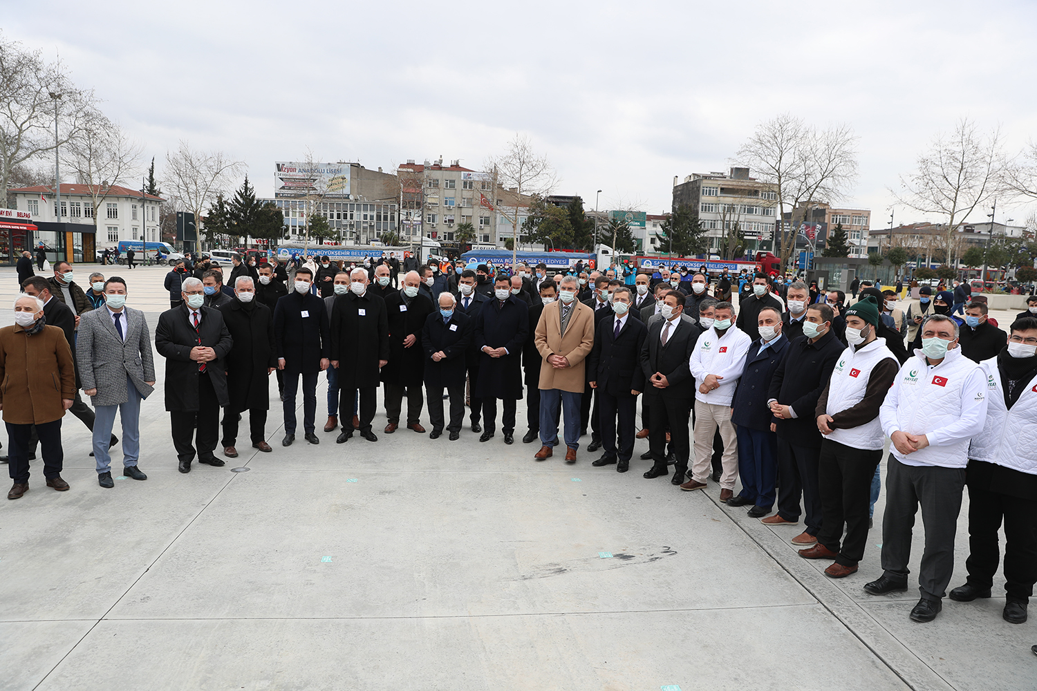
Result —
<path fill-rule="evenodd" d="M 392 434 L 399 426 L 404 393 L 407 428 L 425 432 L 420 420 L 425 363 L 420 340 L 421 329 L 435 310 L 432 303 L 418 292 L 419 284 L 418 272 L 409 271 L 403 277 L 402 289 L 393 291 L 385 299 L 389 320 L 389 363 L 382 368 L 382 381 L 386 385 L 386 434 Z"/>

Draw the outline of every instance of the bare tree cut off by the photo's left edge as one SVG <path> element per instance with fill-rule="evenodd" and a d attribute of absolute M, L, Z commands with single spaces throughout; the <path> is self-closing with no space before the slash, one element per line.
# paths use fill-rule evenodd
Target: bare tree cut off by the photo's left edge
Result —
<path fill-rule="evenodd" d="M 76 87 L 60 60 L 46 62 L 39 51 L 0 37 L 0 202 L 12 172 L 66 144 L 93 103 L 93 92 Z"/>

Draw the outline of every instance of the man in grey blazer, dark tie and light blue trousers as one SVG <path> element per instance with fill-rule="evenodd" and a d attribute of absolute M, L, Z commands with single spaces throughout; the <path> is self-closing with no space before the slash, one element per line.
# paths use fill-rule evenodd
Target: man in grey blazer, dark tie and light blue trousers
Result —
<path fill-rule="evenodd" d="M 122 474 L 146 480 L 140 460 L 140 403 L 153 391 L 155 362 L 151 333 L 144 313 L 125 307 L 125 281 L 113 276 L 105 284 L 108 295 L 103 309 L 83 315 L 76 342 L 76 357 L 84 394 L 91 397 L 93 455 L 97 483 L 115 487 L 108 449 L 115 413 L 122 419 Z"/>

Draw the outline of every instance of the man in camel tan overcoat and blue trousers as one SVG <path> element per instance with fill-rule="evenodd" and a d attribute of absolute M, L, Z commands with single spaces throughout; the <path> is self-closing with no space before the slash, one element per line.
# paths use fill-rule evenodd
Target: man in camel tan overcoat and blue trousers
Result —
<path fill-rule="evenodd" d="M 565 462 L 576 463 L 580 448 L 580 404 L 587 383 L 585 359 L 594 347 L 594 310 L 576 299 L 580 283 L 566 276 L 559 286 L 559 299 L 543 308 L 536 324 L 536 349 L 540 366 L 540 451 L 538 461 L 549 458 L 558 443 L 559 402 L 565 421 Z"/>

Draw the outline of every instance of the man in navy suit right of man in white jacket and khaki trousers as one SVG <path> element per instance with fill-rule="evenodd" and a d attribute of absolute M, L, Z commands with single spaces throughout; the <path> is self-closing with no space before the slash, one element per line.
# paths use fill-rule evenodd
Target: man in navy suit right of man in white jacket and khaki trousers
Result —
<path fill-rule="evenodd" d="M 782 332 L 781 313 L 763 308 L 757 317 L 760 338 L 749 345 L 746 366 L 731 400 L 731 422 L 738 440 L 738 474 L 741 492 L 727 503 L 742 507 L 752 503 L 752 518 L 770 513 L 778 480 L 777 419 L 770 411 L 768 387 L 775 371 L 785 358 L 788 339 Z"/>

